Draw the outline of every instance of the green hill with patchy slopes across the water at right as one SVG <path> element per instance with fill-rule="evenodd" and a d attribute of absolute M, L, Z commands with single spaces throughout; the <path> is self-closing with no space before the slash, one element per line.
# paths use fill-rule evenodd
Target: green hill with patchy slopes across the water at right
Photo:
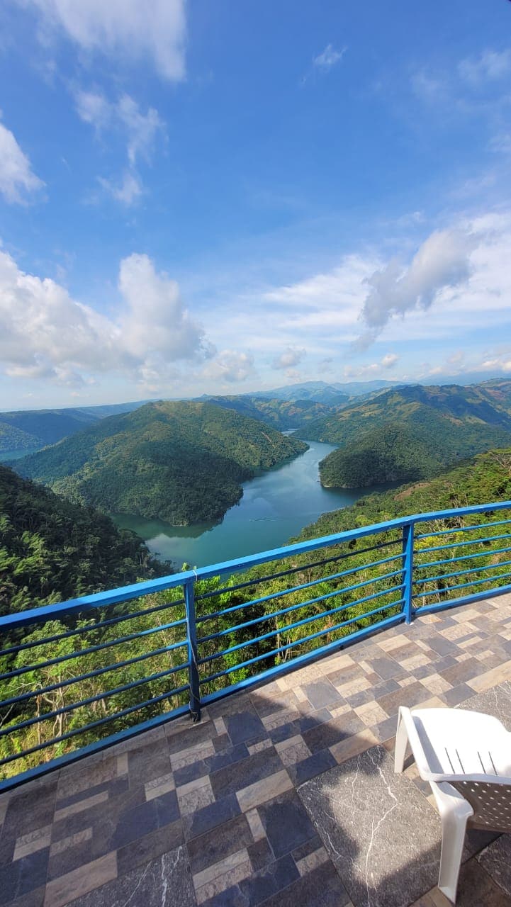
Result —
<path fill-rule="evenodd" d="M 511 382 L 421 387 L 371 395 L 300 429 L 339 444 L 320 464 L 332 487 L 428 477 L 511 441 Z"/>

